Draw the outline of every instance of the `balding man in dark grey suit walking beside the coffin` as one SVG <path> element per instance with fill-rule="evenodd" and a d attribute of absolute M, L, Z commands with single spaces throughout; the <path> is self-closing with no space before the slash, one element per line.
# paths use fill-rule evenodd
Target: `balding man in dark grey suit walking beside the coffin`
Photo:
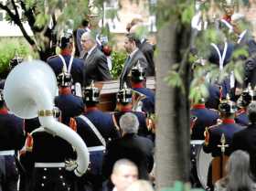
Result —
<path fill-rule="evenodd" d="M 84 60 L 84 82 L 83 86 L 89 86 L 91 80 L 103 81 L 111 80 L 110 70 L 108 68 L 107 58 L 97 48 L 95 37 L 92 37 L 91 31 L 87 31 L 81 36 L 81 57 Z"/>

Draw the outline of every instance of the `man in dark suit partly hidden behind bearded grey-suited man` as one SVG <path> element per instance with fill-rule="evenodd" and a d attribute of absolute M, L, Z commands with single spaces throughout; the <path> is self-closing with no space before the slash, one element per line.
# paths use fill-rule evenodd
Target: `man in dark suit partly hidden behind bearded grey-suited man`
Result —
<path fill-rule="evenodd" d="M 131 27 L 130 33 L 135 34 L 137 36 L 138 31 L 140 31 L 140 28 L 143 29 L 142 24 L 135 25 Z M 138 37 L 138 36 L 137 36 Z M 144 57 L 147 60 L 148 67 L 147 67 L 147 73 L 148 76 L 155 76 L 155 62 L 154 62 L 154 48 L 153 45 L 151 45 L 145 37 L 138 37 L 136 40 L 138 48 L 144 53 Z"/>

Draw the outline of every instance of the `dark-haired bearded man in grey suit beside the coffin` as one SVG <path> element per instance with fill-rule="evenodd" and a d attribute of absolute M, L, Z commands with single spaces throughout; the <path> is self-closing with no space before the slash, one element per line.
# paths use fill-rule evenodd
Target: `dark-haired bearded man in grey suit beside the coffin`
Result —
<path fill-rule="evenodd" d="M 134 34 L 127 34 L 126 39 L 124 41 L 124 48 L 129 56 L 126 58 L 123 66 L 123 71 L 120 76 L 120 88 L 123 88 L 124 82 L 131 87 L 129 75 L 131 73 L 131 69 L 140 63 L 141 67 L 145 69 L 146 76 L 148 75 L 148 62 L 144 57 L 143 52 L 137 47 L 138 43 L 136 43 L 137 38 Z"/>

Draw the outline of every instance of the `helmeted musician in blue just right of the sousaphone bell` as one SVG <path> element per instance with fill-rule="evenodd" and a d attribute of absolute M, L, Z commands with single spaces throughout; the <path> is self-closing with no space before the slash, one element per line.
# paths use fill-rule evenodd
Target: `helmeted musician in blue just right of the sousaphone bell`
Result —
<path fill-rule="evenodd" d="M 84 105 L 80 97 L 71 93 L 72 77 L 67 72 L 62 72 L 57 77 L 59 96 L 55 97 L 55 105 L 61 111 L 61 122 L 69 125 L 70 117 L 75 117 L 83 112 Z"/>

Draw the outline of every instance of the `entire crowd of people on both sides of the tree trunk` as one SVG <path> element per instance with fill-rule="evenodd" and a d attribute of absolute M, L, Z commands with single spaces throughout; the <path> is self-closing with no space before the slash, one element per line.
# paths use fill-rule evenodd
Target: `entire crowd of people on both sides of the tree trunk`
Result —
<path fill-rule="evenodd" d="M 224 47 L 211 43 L 208 58 L 198 58 L 191 71 L 196 75 L 208 62 L 219 65 L 221 72 L 242 45 L 249 52 L 248 58 L 240 58 L 245 70 L 243 83 L 234 80 L 232 72 L 222 81 L 209 80 L 205 73 L 201 80 L 209 95 L 191 100 L 190 133 L 191 140 L 203 142 L 199 148 L 212 156 L 205 167 L 208 177 L 204 188 L 251 191 L 256 175 L 256 43 L 247 30 L 240 31 L 232 8 L 229 5 L 229 11 L 225 9 L 219 19 L 219 30 L 232 27 L 238 38 L 227 38 Z M 192 29 L 199 34 L 203 29 L 198 16 L 192 19 Z M 140 27 L 144 27 L 143 21 L 136 18 L 126 28 L 127 58 L 112 101 L 115 111 L 98 107 L 101 90 L 95 83 L 112 80 L 111 52 L 104 48 L 106 37 L 101 37 L 98 27 L 85 21 L 75 37 L 64 33 L 59 40 L 59 55 L 47 60 L 59 88 L 51 113 L 56 121 L 80 135 L 90 153 L 90 164 L 83 175 L 73 172 L 78 166 L 74 147 L 58 134 L 40 128 L 38 118 L 20 119 L 8 111 L 0 90 L 0 191 L 154 190 L 155 125 L 150 117 L 155 114 L 155 92 L 145 84 L 146 77 L 155 76 L 155 48 L 146 37 L 138 36 Z M 197 53 L 195 50 L 191 49 L 192 54 Z M 15 67 L 21 61 L 16 57 L 11 64 Z M 1 82 L 4 89 L 5 81 Z M 138 95 L 143 99 L 137 101 Z M 191 145 L 190 182 L 201 187 L 198 150 L 195 152 L 194 147 Z"/>

